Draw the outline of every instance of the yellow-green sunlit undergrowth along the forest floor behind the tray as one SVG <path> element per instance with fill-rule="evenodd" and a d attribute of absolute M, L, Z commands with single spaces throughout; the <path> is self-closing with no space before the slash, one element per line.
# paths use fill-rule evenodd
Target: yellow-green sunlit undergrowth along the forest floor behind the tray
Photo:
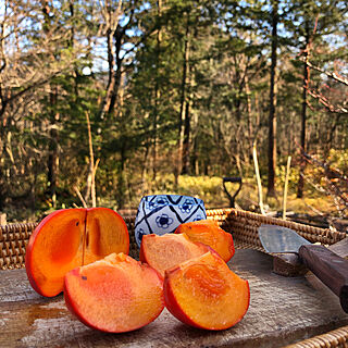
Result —
<path fill-rule="evenodd" d="M 284 171 L 283 171 L 284 173 Z M 283 177 L 282 169 L 279 170 L 279 177 Z M 332 197 L 323 195 L 323 192 L 316 191 L 313 187 L 306 187 L 304 198 L 298 199 L 296 197 L 296 175 L 290 176 L 289 189 L 287 196 L 287 211 L 296 213 L 307 214 L 336 214 L 335 204 Z M 284 181 L 278 178 L 276 191 L 276 198 L 268 198 L 265 184 L 263 183 L 263 204 L 266 211 L 282 211 L 283 210 L 283 187 Z M 226 184 L 227 190 L 233 195 L 238 188 L 238 184 Z M 107 207 L 121 211 L 124 213 L 134 214 L 140 202 L 140 199 L 145 195 L 152 194 L 179 194 L 188 195 L 201 198 L 204 201 L 207 209 L 227 208 L 229 200 L 224 192 L 222 185 L 222 177 L 217 176 L 179 176 L 178 187 L 174 188 L 174 175 L 162 174 L 158 175 L 156 181 L 150 178 L 145 179 L 141 185 L 132 186 L 128 185 L 124 192 L 124 206 L 119 207 L 119 199 L 114 192 L 110 192 L 108 196 L 98 196 L 97 191 L 97 206 Z M 82 203 L 72 192 L 71 197 L 64 196 L 63 201 L 59 201 L 57 207 L 52 207 L 49 200 L 40 202 L 37 209 L 21 209 L 21 207 L 11 206 L 7 207 L 3 211 L 7 213 L 8 222 L 30 222 L 39 221 L 42 216 L 47 215 L 55 209 L 82 207 Z M 241 190 L 236 197 L 236 207 L 249 211 L 259 212 L 259 198 L 258 189 L 254 177 L 244 178 Z"/>

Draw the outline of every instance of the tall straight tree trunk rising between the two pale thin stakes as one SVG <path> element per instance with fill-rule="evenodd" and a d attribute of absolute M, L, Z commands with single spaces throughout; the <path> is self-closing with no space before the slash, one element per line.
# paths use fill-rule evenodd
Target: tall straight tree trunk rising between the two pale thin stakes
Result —
<path fill-rule="evenodd" d="M 275 197 L 275 166 L 276 166 L 276 61 L 277 61 L 277 23 L 278 0 L 272 3 L 272 53 L 270 80 L 270 114 L 269 114 L 269 182 L 268 197 Z"/>

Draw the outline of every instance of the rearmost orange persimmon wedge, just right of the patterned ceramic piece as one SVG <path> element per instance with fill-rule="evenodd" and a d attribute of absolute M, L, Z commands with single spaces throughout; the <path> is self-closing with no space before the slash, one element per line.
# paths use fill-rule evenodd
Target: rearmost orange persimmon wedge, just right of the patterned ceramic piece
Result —
<path fill-rule="evenodd" d="M 191 240 L 206 244 L 215 250 L 227 262 L 235 254 L 232 234 L 222 229 L 217 222 L 200 220 L 181 224 L 176 234 L 185 233 Z"/>

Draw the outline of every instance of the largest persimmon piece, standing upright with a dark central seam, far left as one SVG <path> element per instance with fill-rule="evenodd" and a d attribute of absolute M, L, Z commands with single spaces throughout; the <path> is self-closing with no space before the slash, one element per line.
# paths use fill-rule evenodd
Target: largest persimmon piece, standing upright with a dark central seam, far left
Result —
<path fill-rule="evenodd" d="M 66 272 L 111 252 L 128 251 L 128 229 L 115 211 L 62 209 L 35 228 L 26 248 L 25 269 L 33 288 L 52 297 L 63 290 Z"/>

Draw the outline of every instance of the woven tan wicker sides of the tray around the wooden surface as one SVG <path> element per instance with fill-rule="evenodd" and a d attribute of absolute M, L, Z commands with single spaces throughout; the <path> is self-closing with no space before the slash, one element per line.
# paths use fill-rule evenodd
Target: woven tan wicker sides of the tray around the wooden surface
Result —
<path fill-rule="evenodd" d="M 332 245 L 346 238 L 345 233 L 268 217 L 237 209 L 208 210 L 207 215 L 208 219 L 217 221 L 224 231 L 233 235 L 236 249 L 251 248 L 264 251 L 258 237 L 258 227 L 261 224 L 288 227 L 311 243 L 319 241 L 324 245 Z M 134 237 L 134 221 L 135 216 L 125 217 L 130 236 L 129 254 L 138 258 L 138 247 Z M 21 269 L 25 266 L 25 248 L 36 225 L 35 223 L 27 223 L 0 226 L 0 270 Z M 348 326 L 302 340 L 289 347 L 348 347 Z"/>

